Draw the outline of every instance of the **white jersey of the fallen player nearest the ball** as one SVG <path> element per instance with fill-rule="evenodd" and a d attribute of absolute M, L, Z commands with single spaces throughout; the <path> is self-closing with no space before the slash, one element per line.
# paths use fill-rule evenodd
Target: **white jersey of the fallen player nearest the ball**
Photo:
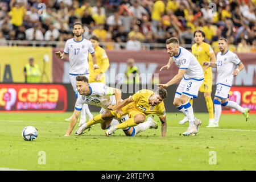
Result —
<path fill-rule="evenodd" d="M 109 105 L 115 105 L 114 88 L 101 82 L 92 82 L 89 84 L 89 89 L 90 94 L 88 96 L 78 94 L 76 110 L 81 110 L 83 104 L 96 105 L 104 109 L 108 108 Z"/>

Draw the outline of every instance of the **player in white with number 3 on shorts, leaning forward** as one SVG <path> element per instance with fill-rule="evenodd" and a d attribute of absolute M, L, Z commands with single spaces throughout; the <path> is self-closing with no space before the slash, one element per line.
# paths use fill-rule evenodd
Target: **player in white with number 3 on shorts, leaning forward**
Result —
<path fill-rule="evenodd" d="M 174 106 L 189 120 L 189 127 L 183 135 L 195 135 L 198 133 L 202 122 L 194 117 L 193 107 L 189 101 L 191 98 L 197 98 L 199 88 L 204 81 L 204 72 L 196 57 L 187 49 L 179 46 L 177 38 L 167 39 L 166 48 L 172 57 L 169 59 L 168 65 L 174 62 L 179 67 L 179 72 L 167 84 L 159 84 L 159 86 L 166 88 L 181 80 L 175 93 Z"/>

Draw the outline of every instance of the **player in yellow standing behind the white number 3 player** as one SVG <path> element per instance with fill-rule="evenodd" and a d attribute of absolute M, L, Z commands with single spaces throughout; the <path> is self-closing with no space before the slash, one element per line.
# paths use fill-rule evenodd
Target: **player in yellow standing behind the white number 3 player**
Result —
<path fill-rule="evenodd" d="M 213 101 L 212 101 L 212 68 L 206 67 L 203 65 L 204 62 L 216 62 L 216 57 L 213 52 L 212 47 L 209 44 L 204 42 L 205 34 L 201 30 L 196 30 L 194 32 L 194 40 L 195 44 L 191 47 L 192 54 L 196 57 L 197 61 L 199 61 L 201 67 L 204 71 L 204 82 L 201 85 L 199 92 L 204 93 L 205 102 L 207 105 L 208 113 L 209 113 L 209 125 L 212 125 L 214 122 L 214 113 L 213 113 Z M 192 101 L 192 100 L 191 100 Z M 191 102 L 192 105 L 192 102 Z M 179 123 L 182 125 L 188 121 L 187 117 L 184 117 Z"/>

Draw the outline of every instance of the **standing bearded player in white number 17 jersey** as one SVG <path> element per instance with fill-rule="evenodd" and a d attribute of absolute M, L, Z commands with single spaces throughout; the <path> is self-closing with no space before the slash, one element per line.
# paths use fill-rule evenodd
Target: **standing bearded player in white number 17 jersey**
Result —
<path fill-rule="evenodd" d="M 67 55 L 69 56 L 69 77 L 74 91 L 76 92 L 76 76 L 85 75 L 89 77 L 89 64 L 88 64 L 88 54 L 92 55 L 93 69 L 98 69 L 96 55 L 94 53 L 94 48 L 92 43 L 89 40 L 86 40 L 82 37 L 84 33 L 84 28 L 82 28 L 82 23 L 76 22 L 73 24 L 73 34 L 74 38 L 68 39 L 65 43 L 65 48 L 63 52 L 55 52 L 57 57 L 60 59 L 65 59 Z M 89 107 L 87 104 L 82 106 L 80 123 L 82 125 L 86 122 L 86 113 L 89 116 L 89 119 L 93 118 L 92 113 L 90 113 Z M 69 118 L 70 120 L 70 118 Z"/>

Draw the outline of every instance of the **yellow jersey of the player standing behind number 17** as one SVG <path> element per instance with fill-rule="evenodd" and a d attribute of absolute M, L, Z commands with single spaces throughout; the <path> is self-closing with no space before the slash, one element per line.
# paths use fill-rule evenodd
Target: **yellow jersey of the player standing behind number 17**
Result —
<path fill-rule="evenodd" d="M 105 74 L 101 76 L 101 79 L 96 81 L 96 76 L 100 73 L 105 73 L 109 68 L 109 58 L 106 54 L 106 51 L 101 48 L 100 46 L 95 48 L 95 55 L 97 59 L 97 65 L 100 67 L 99 69 L 96 69 L 95 72 L 93 70 L 93 61 L 92 61 L 92 55 L 89 54 L 88 56 L 88 62 L 89 62 L 89 82 L 102 82 L 106 83 Z"/>

